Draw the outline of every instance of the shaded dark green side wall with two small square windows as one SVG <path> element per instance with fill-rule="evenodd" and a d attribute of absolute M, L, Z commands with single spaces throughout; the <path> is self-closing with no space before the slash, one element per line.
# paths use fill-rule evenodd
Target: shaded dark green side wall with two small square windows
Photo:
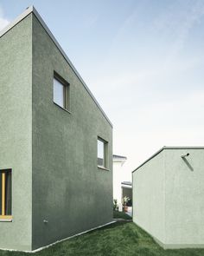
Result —
<path fill-rule="evenodd" d="M 112 221 L 112 128 L 32 16 L 35 249 Z M 54 71 L 70 84 L 71 114 L 53 102 Z M 109 141 L 110 171 L 97 167 L 98 135 Z"/>

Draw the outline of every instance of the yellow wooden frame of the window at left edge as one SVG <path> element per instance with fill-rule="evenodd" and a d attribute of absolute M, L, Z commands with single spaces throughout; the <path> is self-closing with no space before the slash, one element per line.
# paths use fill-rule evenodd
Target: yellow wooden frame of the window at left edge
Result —
<path fill-rule="evenodd" d="M 6 172 L 8 172 L 8 171 L 11 171 L 11 174 L 12 174 L 11 169 L 6 169 L 6 170 L 0 171 L 0 175 L 2 175 L 2 186 L 1 186 L 1 189 L 2 189 L 2 213 L 0 213 L 0 219 L 4 219 L 4 220 L 12 219 L 12 215 L 5 215 L 5 211 L 6 211 Z"/>

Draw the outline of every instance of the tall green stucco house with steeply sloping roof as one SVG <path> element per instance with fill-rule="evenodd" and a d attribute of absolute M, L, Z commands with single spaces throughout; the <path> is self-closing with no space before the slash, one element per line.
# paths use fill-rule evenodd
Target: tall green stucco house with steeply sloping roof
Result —
<path fill-rule="evenodd" d="M 112 123 L 34 7 L 0 31 L 0 248 L 112 221 Z"/>

